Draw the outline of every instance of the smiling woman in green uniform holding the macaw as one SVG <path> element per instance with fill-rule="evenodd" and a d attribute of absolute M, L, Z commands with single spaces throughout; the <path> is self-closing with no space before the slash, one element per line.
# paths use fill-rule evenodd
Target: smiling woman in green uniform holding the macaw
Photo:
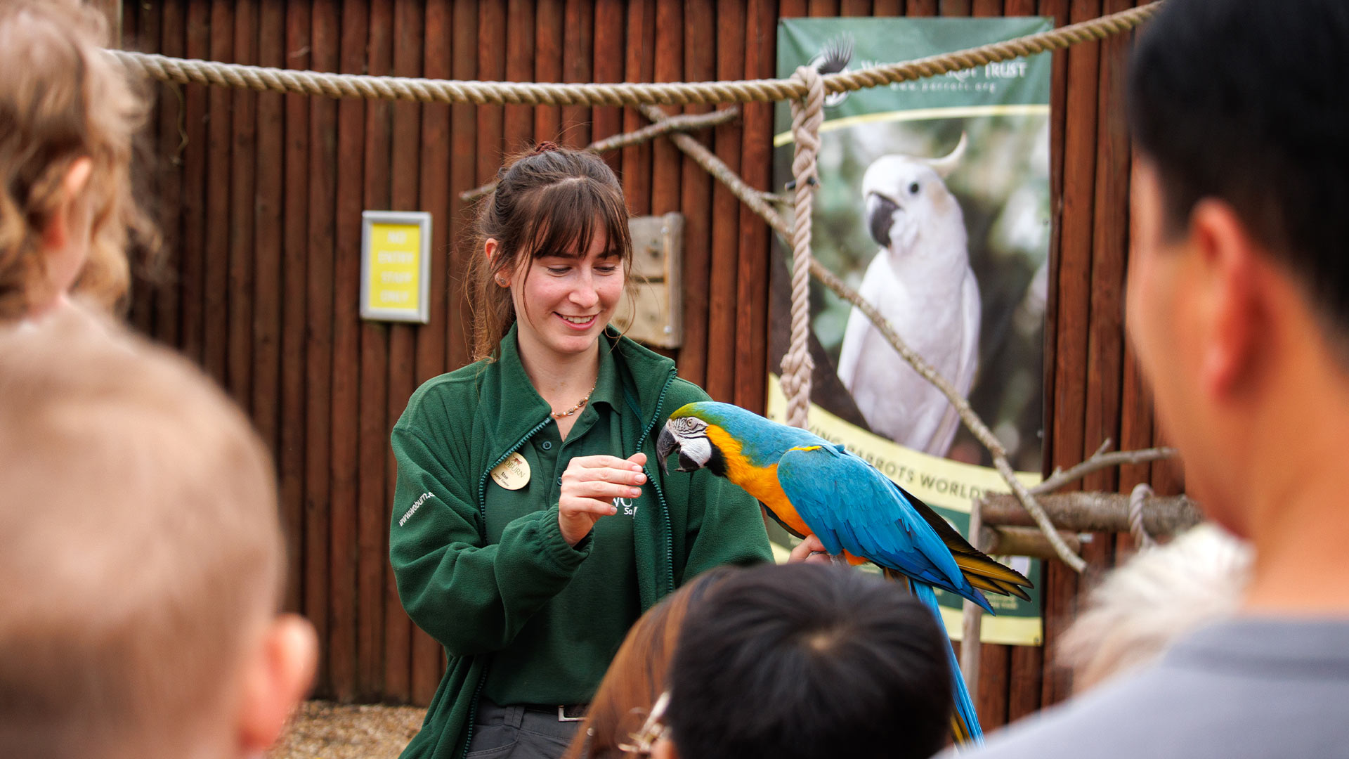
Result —
<path fill-rule="evenodd" d="M 403 758 L 556 758 L 645 609 L 770 552 L 742 490 L 654 466 L 658 425 L 707 394 L 608 328 L 633 255 L 608 166 L 541 145 L 478 232 L 479 361 L 418 388 L 393 432 L 398 593 L 449 658 Z"/>

